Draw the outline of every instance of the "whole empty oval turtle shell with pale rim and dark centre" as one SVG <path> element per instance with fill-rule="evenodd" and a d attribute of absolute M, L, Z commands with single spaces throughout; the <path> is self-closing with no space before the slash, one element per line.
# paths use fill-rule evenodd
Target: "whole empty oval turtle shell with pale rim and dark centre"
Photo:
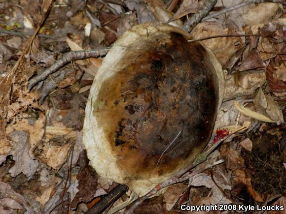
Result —
<path fill-rule="evenodd" d="M 170 25 L 133 27 L 110 49 L 90 90 L 83 143 L 92 166 L 139 195 L 190 164 L 213 131 L 221 66 L 187 39 Z"/>

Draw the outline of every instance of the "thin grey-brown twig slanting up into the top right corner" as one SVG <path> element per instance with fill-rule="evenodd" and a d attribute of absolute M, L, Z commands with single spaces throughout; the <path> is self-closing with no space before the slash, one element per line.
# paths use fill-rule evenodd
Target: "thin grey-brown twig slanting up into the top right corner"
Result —
<path fill-rule="evenodd" d="M 205 18 L 202 19 L 202 22 L 207 21 L 209 19 L 212 19 L 212 18 L 214 18 L 216 16 L 219 16 L 221 14 L 224 14 L 226 12 L 230 12 L 232 10 L 238 9 L 240 7 L 247 6 L 247 5 L 252 4 L 252 3 L 264 3 L 264 2 L 280 3 L 280 4 L 286 5 L 286 1 L 285 0 L 245 0 L 242 3 L 240 3 L 240 4 L 237 4 L 235 6 L 222 9 L 222 10 L 220 10 L 220 11 L 218 11 L 218 12 L 212 14 L 212 15 L 206 16 Z"/>

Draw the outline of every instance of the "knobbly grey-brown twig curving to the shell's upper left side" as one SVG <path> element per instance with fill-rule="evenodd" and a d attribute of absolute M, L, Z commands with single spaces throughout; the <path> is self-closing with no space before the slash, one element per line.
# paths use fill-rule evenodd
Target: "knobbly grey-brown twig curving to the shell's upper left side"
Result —
<path fill-rule="evenodd" d="M 84 51 L 73 51 L 65 54 L 59 61 L 54 63 L 52 66 L 44 70 L 41 74 L 32 78 L 28 84 L 28 90 L 30 91 L 33 86 L 38 82 L 46 79 L 49 75 L 56 72 L 60 67 L 71 62 L 72 60 L 82 60 L 89 57 L 102 57 L 107 54 L 109 48 L 103 48 L 99 50 L 84 50 Z"/>

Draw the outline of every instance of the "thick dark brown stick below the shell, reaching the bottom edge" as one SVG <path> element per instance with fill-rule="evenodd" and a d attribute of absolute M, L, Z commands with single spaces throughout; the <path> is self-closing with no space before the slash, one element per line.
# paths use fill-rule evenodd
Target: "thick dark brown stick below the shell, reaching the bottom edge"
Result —
<path fill-rule="evenodd" d="M 112 189 L 106 196 L 100 199 L 86 214 L 100 214 L 109 207 L 113 202 L 115 202 L 118 198 L 121 197 L 126 191 L 128 187 L 125 184 L 118 184 Z"/>

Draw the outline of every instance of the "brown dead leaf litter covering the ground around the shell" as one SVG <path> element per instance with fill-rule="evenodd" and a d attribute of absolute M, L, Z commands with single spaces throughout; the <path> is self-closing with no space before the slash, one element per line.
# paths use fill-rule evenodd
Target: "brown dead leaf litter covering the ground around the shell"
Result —
<path fill-rule="evenodd" d="M 89 166 L 81 144 L 85 103 L 102 59 L 72 61 L 31 92 L 29 79 L 63 53 L 108 47 L 137 24 L 180 25 L 204 3 L 183 0 L 172 13 L 161 0 L 84 2 L 52 3 L 31 46 L 51 1 L 0 2 L 0 213 L 84 213 L 116 185 Z M 217 0 L 209 15 L 242 2 Z M 207 18 L 190 33 L 223 36 L 201 42 L 221 62 L 226 80 L 214 131 L 234 136 L 218 148 L 223 163 L 169 187 L 134 213 L 178 212 L 185 203 L 286 206 L 285 5 L 248 4 Z M 224 36 L 231 34 L 245 36 Z"/>

